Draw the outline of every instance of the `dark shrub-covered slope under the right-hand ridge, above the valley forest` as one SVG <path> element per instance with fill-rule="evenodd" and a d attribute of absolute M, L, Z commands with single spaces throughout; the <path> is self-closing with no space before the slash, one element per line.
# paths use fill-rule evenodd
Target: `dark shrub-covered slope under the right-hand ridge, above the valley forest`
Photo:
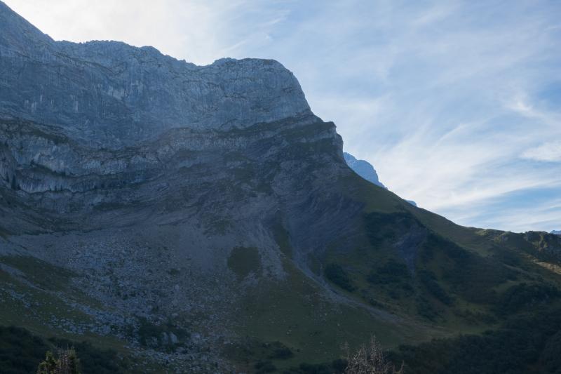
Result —
<path fill-rule="evenodd" d="M 527 251 L 494 242 L 469 248 L 426 225 L 424 211 L 414 213 L 366 213 L 366 240 L 350 252 L 332 251 L 326 278 L 375 307 L 452 328 L 487 328 L 525 303 L 557 300 L 559 277 L 529 261 Z M 455 231 L 478 240 L 463 227 Z"/>

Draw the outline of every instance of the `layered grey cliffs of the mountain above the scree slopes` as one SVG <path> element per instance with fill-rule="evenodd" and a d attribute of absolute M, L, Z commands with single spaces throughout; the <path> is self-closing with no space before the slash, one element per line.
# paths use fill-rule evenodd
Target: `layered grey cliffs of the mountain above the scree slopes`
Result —
<path fill-rule="evenodd" d="M 166 171 L 208 168 L 206 178 L 178 182 L 202 183 L 248 161 L 251 168 L 257 151 L 323 141 L 340 148 L 332 123 L 313 116 L 276 61 L 198 67 L 150 47 L 56 42 L 4 4 L 0 17 L 0 177 L 21 201 L 88 210 L 154 196 L 145 185 L 173 190 Z M 296 131 L 302 136 L 285 139 Z M 225 171 L 211 176 L 214 163 Z M 123 188 L 110 196 L 115 187 Z"/>

